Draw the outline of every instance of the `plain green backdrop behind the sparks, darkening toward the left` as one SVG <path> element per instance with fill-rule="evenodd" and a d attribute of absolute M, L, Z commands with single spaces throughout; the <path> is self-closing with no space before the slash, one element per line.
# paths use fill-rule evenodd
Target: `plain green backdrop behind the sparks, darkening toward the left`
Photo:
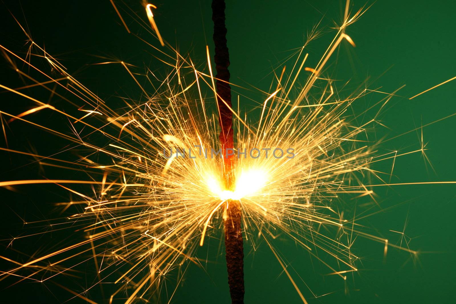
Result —
<path fill-rule="evenodd" d="M 333 28 L 340 24 L 345 7 L 344 2 L 338 1 L 227 2 L 231 81 L 263 90 L 269 88 L 272 68 L 278 67 L 278 62 L 300 48 L 306 32 L 321 21 L 325 35 L 312 42 L 307 49 L 309 66 L 312 66 L 312 62 L 315 64 L 334 36 Z M 125 3 L 145 20 L 140 1 L 129 0 Z M 206 44 L 213 52 L 210 1 L 169 0 L 153 3 L 158 6 L 155 20 L 164 39 L 171 45 L 179 46 L 181 53 L 189 53 L 195 62 L 203 64 Z M 137 28 L 133 25 L 133 19 L 124 13 L 125 5 L 118 5 L 127 24 Z M 358 10 L 362 5 L 363 1 L 354 1 L 351 9 Z M 70 74 L 103 98 L 109 100 L 111 96 L 121 94 L 135 99 L 140 98 L 140 92 L 123 70 L 87 66 L 87 63 L 102 61 L 94 55 L 138 65 L 144 62 L 146 66 L 165 75 L 161 63 L 150 56 L 149 52 L 153 52 L 150 47 L 125 31 L 108 0 L 5 1 L 2 7 L 1 43 L 20 49 L 25 37 L 6 9 L 21 22 L 26 21 L 36 42 L 45 45 L 47 52 L 62 60 Z M 331 72 L 333 77 L 351 80 L 350 83 L 355 87 L 368 78 L 368 88 L 379 88 L 383 92 L 393 92 L 406 84 L 398 93 L 404 98 L 393 98 L 388 104 L 388 110 L 380 117 L 389 129 L 372 130 L 378 138 L 383 135 L 393 138 L 456 112 L 456 81 L 413 100 L 408 99 L 456 76 L 455 11 L 456 4 L 453 1 L 379 0 L 347 29 L 347 34 L 357 46 L 352 48 L 347 43 L 342 43 L 338 60 L 332 62 L 330 68 L 335 71 Z M 145 31 L 135 33 L 153 42 L 155 46 L 159 45 Z M 287 67 L 291 65 L 292 61 L 287 62 Z M 7 66 L 2 67 L 2 71 L 8 69 Z M 17 77 L 6 75 L 5 72 L 1 77 L 2 84 L 19 86 L 20 80 Z M 15 97 L 4 93 L 0 96 L 2 109 L 15 111 L 17 107 L 14 113 L 21 112 L 22 106 L 14 101 Z M 262 98 L 257 93 L 252 93 L 252 97 L 258 101 Z M 372 100 L 364 100 L 358 109 L 381 97 L 376 95 Z M 241 99 L 241 102 L 246 109 L 253 108 L 256 104 L 247 98 Z M 396 160 L 392 182 L 455 180 L 455 119 L 456 117 L 451 117 L 423 129 L 424 142 L 429 149 L 426 155 L 435 172 L 421 154 L 409 155 Z M 16 144 L 16 147 L 38 145 L 28 144 L 33 131 L 14 131 L 13 128 L 11 132 L 21 135 L 20 139 L 12 139 L 14 143 L 11 144 Z M 50 149 L 49 154 L 52 153 L 52 147 L 46 147 L 45 144 L 41 143 L 40 148 L 41 154 L 46 153 L 46 149 Z M 410 132 L 385 142 L 382 148 L 400 151 L 419 149 L 420 134 Z M 27 169 L 22 167 L 29 160 L 3 152 L 2 157 L 5 157 L 5 165 L 2 166 L 1 180 L 21 179 L 38 170 L 33 165 L 27 166 Z M 391 163 L 384 162 L 376 169 L 388 172 Z M 50 194 L 37 196 L 31 188 L 19 189 L 20 193 L 3 189 L 1 192 L 1 207 L 4 210 L 2 216 L 5 217 L 2 221 L 2 235 L 6 245 L 7 239 L 15 236 L 15 229 L 20 226 L 15 212 L 25 214 L 28 204 L 39 210 L 43 217 L 54 210 L 51 202 L 56 199 L 47 197 Z M 33 189 L 44 191 L 45 188 Z M 405 228 L 405 234 L 412 238 L 409 242 L 411 249 L 422 253 L 411 257 L 406 252 L 389 248 L 384 261 L 383 244 L 359 239 L 352 250 L 362 258 L 361 263 L 357 264 L 360 271 L 349 275 L 344 283 L 335 276 L 324 276 L 330 271 L 318 262 L 311 261 L 307 252 L 296 247 L 290 240 L 276 240 L 275 246 L 284 253 L 290 268 L 299 273 L 302 280 L 292 272 L 308 302 L 451 303 L 456 288 L 455 186 L 410 185 L 390 189 L 378 187 L 375 191 L 379 206 L 368 213 L 378 210 L 383 212 L 361 220 L 362 224 L 373 227 L 374 234 L 388 238 L 390 243 L 400 242 L 399 234 L 390 230 L 403 231 Z M 59 195 L 60 200 L 64 200 L 65 194 Z M 348 203 L 340 209 L 351 210 Z M 392 206 L 394 208 L 389 208 Z M 15 212 L 11 211 L 13 209 Z M 210 242 L 213 243 L 213 248 L 209 247 L 206 253 L 209 260 L 215 263 L 207 263 L 205 270 L 191 266 L 172 303 L 230 303 L 223 250 L 218 248 L 219 240 Z M 39 241 L 26 246 L 38 246 L 37 244 L 40 244 Z M 256 250 L 248 243 L 244 246 L 245 303 L 300 303 L 298 294 L 269 248 L 264 243 Z M 1 287 L 8 287 L 4 282 L 0 283 Z M 315 298 L 303 282 L 320 297 Z M 72 288 L 83 290 L 85 284 L 82 279 Z M 173 284 L 173 278 L 169 278 L 170 290 Z M 104 288 L 109 294 L 110 287 Z M 23 282 L 3 289 L 1 294 L 7 303 L 59 303 L 71 297 L 71 294 L 56 289 L 51 283 Z M 323 294 L 328 295 L 321 296 Z M 90 298 L 103 302 L 98 291 L 90 294 Z M 166 303 L 165 291 L 162 299 Z M 75 299 L 73 301 L 78 302 Z"/>

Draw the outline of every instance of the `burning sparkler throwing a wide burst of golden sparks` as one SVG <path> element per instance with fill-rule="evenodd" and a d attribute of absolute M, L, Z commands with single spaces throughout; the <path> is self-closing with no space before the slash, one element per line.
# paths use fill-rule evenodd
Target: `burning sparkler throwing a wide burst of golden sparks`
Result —
<path fill-rule="evenodd" d="M 111 3 L 114 5 L 113 1 Z M 148 294 L 159 293 L 165 276 L 175 269 L 181 273 L 180 281 L 186 269 L 184 264 L 202 265 L 196 255 L 197 249 L 205 245 L 207 235 L 217 234 L 223 222 L 228 266 L 239 262 L 239 257 L 229 261 L 231 245 L 228 244 L 230 235 L 237 236 L 236 242 L 242 241 L 242 221 L 246 237 L 250 235 L 248 241 L 255 242 L 253 235 L 264 240 L 302 302 L 307 303 L 284 259 L 272 244 L 274 231 L 280 231 L 299 244 L 326 265 L 331 274 L 343 280 L 347 278 L 347 273 L 358 270 L 355 266 L 358 257 L 351 250 L 356 237 L 384 243 L 385 254 L 388 247 L 417 253 L 357 228 L 354 220 L 342 219 L 334 210 L 338 196 L 371 196 L 374 200 L 374 187 L 400 185 L 383 182 L 382 175 L 385 174 L 371 169 L 374 163 L 396 160 L 411 153 L 425 153 L 422 146 L 412 151 L 378 155 L 379 143 L 369 142 L 364 137 L 369 125 L 380 124 L 375 119 L 377 115 L 361 124 L 357 124 L 356 119 L 369 110 L 375 110 L 375 107 L 379 113 L 394 93 L 360 89 L 342 98 L 334 81 L 324 77 L 324 68 L 337 47 L 342 43 L 354 46 L 345 30 L 363 15 L 365 8 L 350 14 L 347 2 L 342 25 L 316 66 L 306 65 L 309 56 L 305 52 L 307 44 L 302 46 L 296 54 L 290 76 L 285 76 L 285 67 L 275 74 L 274 89 L 265 94 L 259 106 L 258 121 L 249 123 L 247 114 L 239 109 L 236 111 L 231 105 L 229 76 L 213 77 L 208 49 L 206 70 L 196 67 L 190 58 L 181 56 L 161 38 L 151 7 L 154 6 L 147 5 L 145 9 L 154 33 L 161 45 L 166 45 L 173 52 L 173 56 L 150 46 L 165 58 L 159 58 L 162 62 L 173 68 L 171 73 L 164 80 L 158 80 L 152 72 L 138 73 L 127 62 L 99 63 L 117 64 L 130 74 L 135 85 L 144 93 L 144 101 L 124 100 L 126 110 L 110 108 L 108 103 L 67 73 L 62 63 L 38 46 L 26 31 L 29 46 L 26 57 L 0 45 L 6 60 L 28 83 L 20 88 L 3 84 L 0 87 L 5 94 L 16 94 L 33 105 L 22 113 L 0 110 L 5 139 L 5 122 L 11 127 L 17 123 L 28 124 L 67 140 L 69 150 L 77 152 L 78 157 L 68 160 L 64 152 L 49 156 L 8 147 L 0 149 L 32 156 L 41 165 L 82 171 L 88 176 L 85 180 L 62 177 L 0 182 L 0 186 L 9 189 L 15 185 L 54 184 L 77 196 L 78 200 L 59 205 L 63 210 L 78 208 L 79 211 L 72 216 L 47 221 L 52 222 L 52 227 L 87 235 L 82 241 L 66 243 L 56 250 L 51 248 L 49 252 L 33 256 L 25 263 L 2 256 L 11 266 L 1 269 L 0 279 L 16 276 L 21 281 L 44 282 L 57 275 L 71 273 L 76 265 L 93 259 L 98 270 L 98 282 L 93 286 L 99 282 L 114 282 L 118 287 L 110 295 L 109 302 L 121 298 L 121 292 L 127 291 L 125 303 L 132 303 L 135 299 L 146 298 Z M 117 8 L 116 12 L 130 32 Z M 312 31 L 309 41 L 318 35 L 319 32 Z M 36 56 L 31 57 L 31 54 Z M 216 50 L 216 64 L 224 65 L 225 72 L 228 72 L 227 62 L 218 61 L 217 54 Z M 35 57 L 44 58 L 54 73 L 37 67 Z M 221 74 L 219 68 L 217 71 Z M 158 88 L 152 93 L 140 84 L 139 77 L 151 86 L 154 82 L 158 83 Z M 298 79 L 302 77 L 306 80 L 303 85 L 298 85 L 301 83 Z M 50 88 L 50 85 L 55 88 Z M 38 100 L 23 93 L 23 88 L 48 90 L 67 105 L 62 107 Z M 224 88 L 228 89 L 227 93 L 221 93 Z M 212 113 L 211 98 L 205 90 L 215 97 L 219 105 L 222 101 L 225 107 L 219 106 L 218 112 Z M 293 93 L 295 90 L 297 94 Z M 347 110 L 367 94 L 378 94 L 376 96 L 380 98 L 373 107 L 350 117 Z M 68 134 L 63 127 L 54 129 L 46 123 L 36 122 L 30 115 L 43 111 L 52 111 L 68 119 L 72 134 Z M 232 115 L 237 131 L 233 141 L 235 147 L 230 140 L 232 135 L 227 132 L 231 126 L 225 124 L 228 119 L 223 119 L 229 117 L 231 123 Z M 104 143 L 93 140 L 94 134 L 101 136 Z M 207 157 L 211 149 L 219 147 L 225 152 L 230 147 L 235 148 L 235 156 L 225 160 Z M 273 155 L 276 149 L 287 151 L 290 148 L 293 149 L 292 158 Z M 192 157 L 191 153 L 165 153 L 176 149 L 198 149 L 199 153 L 194 153 Z M 250 155 L 250 151 L 255 149 L 259 149 L 258 153 Z M 264 155 L 258 156 L 263 152 Z M 269 157 L 266 157 L 268 152 Z M 235 163 L 232 163 L 233 158 L 237 158 Z M 365 184 L 363 175 L 378 179 L 378 183 Z M 78 185 L 90 185 L 93 193 Z M 220 217 L 224 221 L 219 221 Z M 232 225 L 229 225 L 230 219 Z M 39 226 L 42 223 L 27 225 Z M 318 229 L 321 226 L 326 228 L 326 232 Z M 41 233 L 46 232 L 39 232 L 38 235 Z M 11 242 L 34 236 L 36 233 L 15 237 Z M 238 246 L 242 247 L 242 242 L 238 242 Z M 331 259 L 319 258 L 319 252 L 326 253 Z M 65 266 L 68 263 L 72 266 Z M 70 292 L 93 303 L 85 293 L 76 293 L 71 289 Z"/>

